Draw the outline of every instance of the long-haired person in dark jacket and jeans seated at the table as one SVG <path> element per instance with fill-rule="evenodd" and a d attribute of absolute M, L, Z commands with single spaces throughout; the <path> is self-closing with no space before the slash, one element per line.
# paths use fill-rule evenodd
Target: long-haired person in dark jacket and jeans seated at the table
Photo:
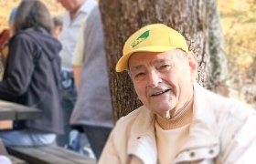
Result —
<path fill-rule="evenodd" d="M 0 134 L 5 145 L 48 145 L 63 132 L 59 98 L 61 45 L 52 30 L 52 18 L 45 5 L 40 1 L 21 2 L 0 82 L 0 99 L 38 108 L 43 117 L 15 122 L 15 130 Z"/>

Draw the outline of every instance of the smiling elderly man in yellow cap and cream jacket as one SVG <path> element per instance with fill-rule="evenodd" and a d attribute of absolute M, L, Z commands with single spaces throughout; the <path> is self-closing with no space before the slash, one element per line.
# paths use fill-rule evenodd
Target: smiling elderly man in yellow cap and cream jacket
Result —
<path fill-rule="evenodd" d="M 144 106 L 121 118 L 99 163 L 254 163 L 256 112 L 196 82 L 197 56 L 176 30 L 144 26 L 123 46 Z"/>

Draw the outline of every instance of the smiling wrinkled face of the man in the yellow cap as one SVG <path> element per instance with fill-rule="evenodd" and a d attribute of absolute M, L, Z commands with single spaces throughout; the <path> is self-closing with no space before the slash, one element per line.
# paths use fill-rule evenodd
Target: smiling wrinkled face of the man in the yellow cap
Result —
<path fill-rule="evenodd" d="M 172 118 L 193 97 L 197 58 L 177 49 L 138 52 L 129 59 L 129 71 L 144 106 L 162 118 Z"/>

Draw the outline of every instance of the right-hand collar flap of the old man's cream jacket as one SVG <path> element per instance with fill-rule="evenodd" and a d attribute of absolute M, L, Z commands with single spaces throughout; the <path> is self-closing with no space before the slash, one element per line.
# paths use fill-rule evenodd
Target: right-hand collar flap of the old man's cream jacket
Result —
<path fill-rule="evenodd" d="M 191 149 L 198 140 L 197 146 L 218 144 L 217 117 L 212 107 L 208 107 L 205 88 L 194 84 L 194 119 L 190 126 L 190 137 L 184 149 Z M 199 133 L 198 133 L 199 132 Z"/>

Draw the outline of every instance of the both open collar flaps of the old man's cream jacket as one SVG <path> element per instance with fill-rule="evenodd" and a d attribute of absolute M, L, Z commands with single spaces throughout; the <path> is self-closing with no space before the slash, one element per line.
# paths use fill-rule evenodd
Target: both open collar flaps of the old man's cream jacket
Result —
<path fill-rule="evenodd" d="M 213 156 L 219 154 L 219 138 L 214 110 L 208 107 L 205 88 L 194 84 L 194 119 L 190 126 L 190 137 L 181 149 L 176 161 L 186 157 L 187 149 L 214 148 Z M 155 115 L 144 106 L 140 110 L 131 129 L 128 140 L 128 155 L 142 159 L 144 163 L 157 163 L 155 141 Z"/>

